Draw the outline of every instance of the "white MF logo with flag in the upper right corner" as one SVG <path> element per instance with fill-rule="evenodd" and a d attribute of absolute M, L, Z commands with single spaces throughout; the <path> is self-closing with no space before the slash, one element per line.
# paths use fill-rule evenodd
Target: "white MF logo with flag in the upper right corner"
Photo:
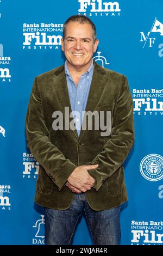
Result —
<path fill-rule="evenodd" d="M 141 39 L 140 42 L 142 44 L 142 47 L 153 47 L 156 45 L 156 41 L 161 41 L 159 42 L 158 46 L 158 56 L 163 57 L 163 23 L 162 21 L 160 22 L 155 18 L 153 25 L 148 31 L 148 33 L 140 32 L 141 34 Z M 156 37 L 154 37 L 156 36 Z"/>

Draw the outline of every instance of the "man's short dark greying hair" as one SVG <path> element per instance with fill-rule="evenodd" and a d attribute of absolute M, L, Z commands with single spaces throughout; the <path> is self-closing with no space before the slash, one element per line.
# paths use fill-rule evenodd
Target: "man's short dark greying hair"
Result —
<path fill-rule="evenodd" d="M 87 16 L 82 15 L 82 14 L 72 15 L 65 21 L 64 26 L 63 26 L 63 40 L 65 40 L 66 26 L 71 21 L 78 22 L 80 24 L 89 23 L 92 26 L 92 30 L 93 30 L 93 33 L 92 33 L 93 41 L 94 42 L 96 41 L 96 26 L 95 26 L 95 24 Z"/>

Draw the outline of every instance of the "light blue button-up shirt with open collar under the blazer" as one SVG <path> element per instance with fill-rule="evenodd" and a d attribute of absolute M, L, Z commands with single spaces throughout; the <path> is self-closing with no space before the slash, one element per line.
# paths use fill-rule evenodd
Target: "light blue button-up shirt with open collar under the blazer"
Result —
<path fill-rule="evenodd" d="M 80 129 L 82 126 L 87 98 L 89 96 L 89 90 L 90 90 L 92 76 L 93 76 L 93 69 L 94 69 L 94 65 L 92 60 L 92 63 L 89 69 L 80 77 L 78 86 L 76 86 L 68 70 L 67 60 L 65 61 L 65 74 L 66 74 L 66 80 L 67 80 L 68 94 L 70 97 L 74 124 L 76 125 L 78 136 L 80 135 Z M 77 113 L 74 113 L 74 111 L 77 111 Z"/>

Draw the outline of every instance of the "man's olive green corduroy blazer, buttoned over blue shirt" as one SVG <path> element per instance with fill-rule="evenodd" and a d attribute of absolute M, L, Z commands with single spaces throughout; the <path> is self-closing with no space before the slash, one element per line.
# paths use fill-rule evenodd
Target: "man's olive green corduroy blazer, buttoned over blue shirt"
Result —
<path fill-rule="evenodd" d="M 126 76 L 102 68 L 95 61 L 85 111 L 111 111 L 111 133 L 101 130 L 53 130 L 54 111 L 71 104 L 64 65 L 35 77 L 30 95 L 27 146 L 40 163 L 35 202 L 47 208 L 69 208 L 74 193 L 66 186 L 77 166 L 96 164 L 88 170 L 95 185 L 85 192 L 93 210 L 111 209 L 128 200 L 123 162 L 134 143 L 133 100 Z"/>

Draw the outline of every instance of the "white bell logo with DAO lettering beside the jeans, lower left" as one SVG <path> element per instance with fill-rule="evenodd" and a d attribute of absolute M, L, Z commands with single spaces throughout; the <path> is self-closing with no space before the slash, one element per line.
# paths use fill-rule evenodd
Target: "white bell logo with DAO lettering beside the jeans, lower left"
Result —
<path fill-rule="evenodd" d="M 35 238 L 33 238 L 33 245 L 44 245 L 45 244 L 45 219 L 44 215 L 36 221 L 33 228 L 35 229 Z"/>

